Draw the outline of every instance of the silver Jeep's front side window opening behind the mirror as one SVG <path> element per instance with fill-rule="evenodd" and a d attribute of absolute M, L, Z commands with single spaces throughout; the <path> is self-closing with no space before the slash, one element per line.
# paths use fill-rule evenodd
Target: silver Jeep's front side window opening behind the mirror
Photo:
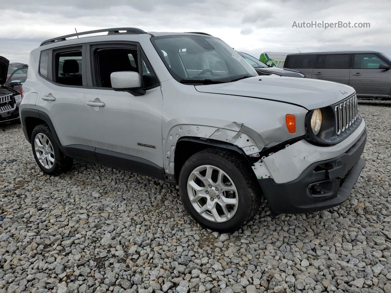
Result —
<path fill-rule="evenodd" d="M 136 48 L 96 48 L 93 50 L 94 84 L 99 88 L 111 88 L 110 75 L 116 71 L 135 71 L 140 73 Z M 149 63 L 141 60 L 144 88 L 158 84 Z"/>

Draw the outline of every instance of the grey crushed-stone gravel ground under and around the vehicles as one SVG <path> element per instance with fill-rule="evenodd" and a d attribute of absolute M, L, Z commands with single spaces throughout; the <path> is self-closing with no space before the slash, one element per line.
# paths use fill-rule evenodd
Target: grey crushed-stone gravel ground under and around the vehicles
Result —
<path fill-rule="evenodd" d="M 367 161 L 343 205 L 203 229 L 178 188 L 89 163 L 40 172 L 0 126 L 0 293 L 391 292 L 390 107 L 360 105 Z"/>

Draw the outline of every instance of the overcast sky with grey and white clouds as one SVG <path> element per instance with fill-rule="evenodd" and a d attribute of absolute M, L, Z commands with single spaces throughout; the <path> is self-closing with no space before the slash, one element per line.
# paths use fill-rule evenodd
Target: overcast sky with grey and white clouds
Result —
<path fill-rule="evenodd" d="M 77 31 L 138 27 L 201 31 L 237 50 L 378 50 L 391 55 L 391 1 L 360 0 L 0 0 L 0 55 L 28 63 L 41 41 Z M 300 22 L 369 23 L 370 28 L 292 28 Z"/>

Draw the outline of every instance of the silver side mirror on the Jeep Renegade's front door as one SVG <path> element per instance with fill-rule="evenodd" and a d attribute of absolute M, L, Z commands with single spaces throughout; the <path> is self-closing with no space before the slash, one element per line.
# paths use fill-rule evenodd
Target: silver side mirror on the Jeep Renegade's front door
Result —
<path fill-rule="evenodd" d="M 116 71 L 110 75 L 111 87 L 115 91 L 127 91 L 134 96 L 141 96 L 145 91 L 141 89 L 141 77 L 135 71 Z"/>

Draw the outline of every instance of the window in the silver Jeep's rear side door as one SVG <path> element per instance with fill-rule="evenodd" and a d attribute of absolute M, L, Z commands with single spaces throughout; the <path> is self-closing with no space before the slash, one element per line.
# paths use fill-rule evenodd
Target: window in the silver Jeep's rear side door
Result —
<path fill-rule="evenodd" d="M 55 54 L 54 81 L 67 86 L 82 86 L 81 50 Z"/>

